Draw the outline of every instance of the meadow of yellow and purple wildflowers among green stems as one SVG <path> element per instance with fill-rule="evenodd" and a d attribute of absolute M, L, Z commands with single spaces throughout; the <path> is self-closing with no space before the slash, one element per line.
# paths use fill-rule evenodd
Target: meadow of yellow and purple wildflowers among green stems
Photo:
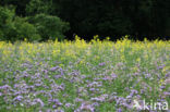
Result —
<path fill-rule="evenodd" d="M 136 112 L 144 99 L 170 109 L 170 41 L 0 42 L 0 112 Z"/>

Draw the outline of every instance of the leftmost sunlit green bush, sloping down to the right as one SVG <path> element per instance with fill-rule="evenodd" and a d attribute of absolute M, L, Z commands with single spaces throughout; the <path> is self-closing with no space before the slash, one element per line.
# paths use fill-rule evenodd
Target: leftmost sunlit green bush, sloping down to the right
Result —
<path fill-rule="evenodd" d="M 15 16 L 14 10 L 0 7 L 0 39 L 1 40 L 39 40 L 40 36 L 33 24 L 25 18 Z"/>

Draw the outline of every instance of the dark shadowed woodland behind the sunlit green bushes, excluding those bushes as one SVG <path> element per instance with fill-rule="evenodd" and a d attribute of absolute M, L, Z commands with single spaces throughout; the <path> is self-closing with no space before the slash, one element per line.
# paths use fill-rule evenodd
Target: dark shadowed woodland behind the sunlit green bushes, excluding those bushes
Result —
<path fill-rule="evenodd" d="M 60 17 L 70 23 L 68 37 L 170 35 L 170 0 L 0 0 L 0 5 L 13 5 L 17 16 L 35 17 L 44 13 Z"/>

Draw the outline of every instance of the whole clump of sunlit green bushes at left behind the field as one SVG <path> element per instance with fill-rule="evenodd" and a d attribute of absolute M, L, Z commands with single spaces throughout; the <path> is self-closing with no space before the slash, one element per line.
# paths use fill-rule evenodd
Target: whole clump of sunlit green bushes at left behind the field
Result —
<path fill-rule="evenodd" d="M 69 29 L 69 23 L 59 17 L 36 14 L 29 17 L 19 17 L 14 10 L 0 7 L 0 40 L 62 40 L 63 33 Z"/>

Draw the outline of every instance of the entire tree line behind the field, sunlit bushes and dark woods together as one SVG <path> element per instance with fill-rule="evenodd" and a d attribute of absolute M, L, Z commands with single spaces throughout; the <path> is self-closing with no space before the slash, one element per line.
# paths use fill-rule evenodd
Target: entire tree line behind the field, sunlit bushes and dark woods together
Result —
<path fill-rule="evenodd" d="M 170 0 L 1 0 L 1 40 L 169 38 Z"/>

